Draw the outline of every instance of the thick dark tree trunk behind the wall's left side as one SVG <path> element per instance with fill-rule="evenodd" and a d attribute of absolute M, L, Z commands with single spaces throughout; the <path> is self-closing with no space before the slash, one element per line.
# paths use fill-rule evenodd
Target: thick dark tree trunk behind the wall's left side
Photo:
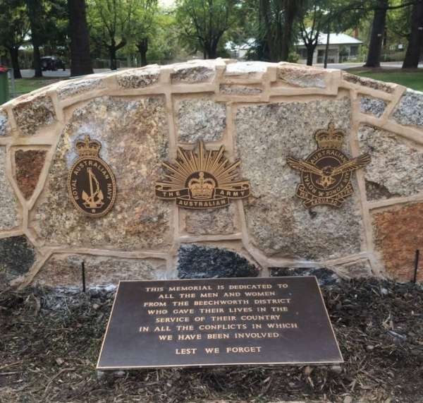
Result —
<path fill-rule="evenodd" d="M 71 36 L 71 76 L 92 74 L 90 35 L 85 13 L 85 0 L 68 0 Z"/>

